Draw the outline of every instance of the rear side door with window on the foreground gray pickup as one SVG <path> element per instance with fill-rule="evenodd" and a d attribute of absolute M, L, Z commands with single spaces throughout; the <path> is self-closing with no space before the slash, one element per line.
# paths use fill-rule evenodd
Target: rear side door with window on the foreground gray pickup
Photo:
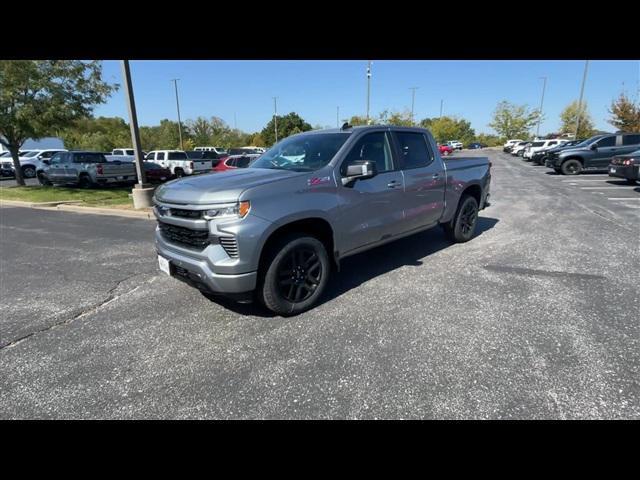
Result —
<path fill-rule="evenodd" d="M 435 225 L 444 211 L 444 160 L 436 158 L 423 133 L 397 131 L 394 137 L 404 176 L 403 230 Z"/>

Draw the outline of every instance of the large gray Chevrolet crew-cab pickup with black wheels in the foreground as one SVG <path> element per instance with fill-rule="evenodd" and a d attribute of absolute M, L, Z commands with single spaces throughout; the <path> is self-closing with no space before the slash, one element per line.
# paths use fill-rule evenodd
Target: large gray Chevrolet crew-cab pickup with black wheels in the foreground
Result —
<path fill-rule="evenodd" d="M 257 298 L 297 314 L 317 303 L 349 255 L 436 225 L 453 241 L 470 240 L 490 181 L 487 158 L 443 161 L 421 128 L 301 133 L 248 168 L 160 186 L 159 266 L 206 296 Z"/>

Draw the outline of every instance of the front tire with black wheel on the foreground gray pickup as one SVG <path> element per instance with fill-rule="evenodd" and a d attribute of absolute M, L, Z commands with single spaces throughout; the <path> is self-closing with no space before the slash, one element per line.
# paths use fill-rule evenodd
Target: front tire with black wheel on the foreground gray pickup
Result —
<path fill-rule="evenodd" d="M 307 234 L 292 234 L 277 242 L 267 255 L 257 292 L 264 306 L 282 316 L 297 315 L 314 306 L 331 271 L 324 244 Z"/>

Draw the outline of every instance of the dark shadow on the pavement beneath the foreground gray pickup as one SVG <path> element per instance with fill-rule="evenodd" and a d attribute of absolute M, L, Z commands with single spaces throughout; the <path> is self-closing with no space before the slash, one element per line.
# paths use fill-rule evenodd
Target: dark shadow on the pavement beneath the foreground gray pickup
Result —
<path fill-rule="evenodd" d="M 498 222 L 497 218 L 478 217 L 474 239 L 491 230 Z M 473 242 L 474 240 L 472 239 L 471 241 Z M 327 290 L 317 306 L 397 268 L 420 266 L 423 264 L 422 260 L 425 257 L 451 245 L 452 243 L 445 237 L 441 228 L 431 228 L 410 237 L 347 257 L 341 262 L 340 272 L 332 272 Z M 210 300 L 240 315 L 267 318 L 276 316 L 255 302 L 241 304 L 224 297 L 210 298 Z"/>

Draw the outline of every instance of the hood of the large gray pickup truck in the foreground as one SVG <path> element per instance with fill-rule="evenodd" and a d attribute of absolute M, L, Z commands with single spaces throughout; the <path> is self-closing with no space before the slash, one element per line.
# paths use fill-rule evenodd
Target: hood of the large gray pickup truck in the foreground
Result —
<path fill-rule="evenodd" d="M 240 194 L 249 188 L 303 174 L 267 168 L 239 168 L 173 180 L 158 187 L 154 198 L 160 202 L 184 205 L 236 202 Z"/>

